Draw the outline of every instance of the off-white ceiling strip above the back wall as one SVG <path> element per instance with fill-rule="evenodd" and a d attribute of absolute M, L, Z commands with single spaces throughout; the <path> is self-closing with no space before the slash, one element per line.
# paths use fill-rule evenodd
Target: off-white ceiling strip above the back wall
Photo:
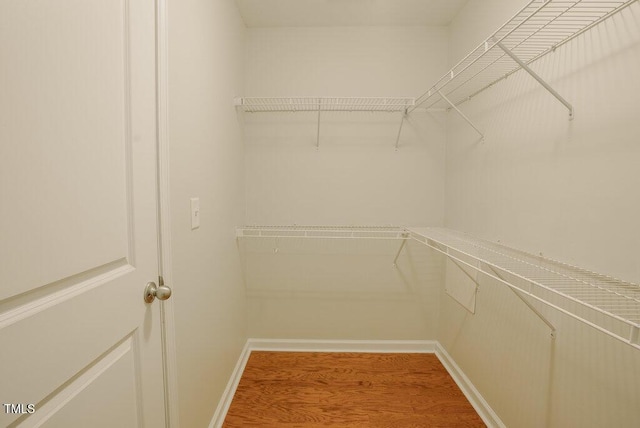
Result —
<path fill-rule="evenodd" d="M 448 25 L 468 0 L 236 0 L 247 27 Z"/>

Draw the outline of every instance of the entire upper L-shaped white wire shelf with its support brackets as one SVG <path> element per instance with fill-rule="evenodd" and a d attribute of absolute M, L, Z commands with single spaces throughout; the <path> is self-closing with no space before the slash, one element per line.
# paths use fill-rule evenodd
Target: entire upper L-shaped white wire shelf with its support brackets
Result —
<path fill-rule="evenodd" d="M 236 106 L 249 113 L 317 112 L 316 147 L 320 146 L 321 112 L 400 112 L 398 149 L 407 114 L 454 109 L 484 139 L 459 106 L 482 91 L 525 70 L 560 101 L 573 119 L 573 106 L 529 65 L 573 40 L 638 0 L 530 0 L 518 13 L 472 50 L 418 98 L 387 97 L 246 97 Z"/>

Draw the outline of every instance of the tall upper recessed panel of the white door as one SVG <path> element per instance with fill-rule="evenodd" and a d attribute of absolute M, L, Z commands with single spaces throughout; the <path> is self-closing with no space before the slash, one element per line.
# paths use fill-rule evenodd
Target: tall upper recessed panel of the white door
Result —
<path fill-rule="evenodd" d="M 3 299 L 127 258 L 131 97 L 125 3 L 0 4 Z"/>

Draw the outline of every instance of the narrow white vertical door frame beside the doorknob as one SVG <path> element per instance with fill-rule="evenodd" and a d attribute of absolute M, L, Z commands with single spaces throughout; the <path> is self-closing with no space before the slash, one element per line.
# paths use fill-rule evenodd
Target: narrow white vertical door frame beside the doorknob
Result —
<path fill-rule="evenodd" d="M 157 183 L 158 183 L 158 274 L 173 288 L 171 251 L 171 205 L 169 182 L 169 0 L 156 0 L 156 117 L 157 117 Z M 164 374 L 165 420 L 167 427 L 180 426 L 178 401 L 178 361 L 174 299 L 160 307 L 162 361 Z"/>

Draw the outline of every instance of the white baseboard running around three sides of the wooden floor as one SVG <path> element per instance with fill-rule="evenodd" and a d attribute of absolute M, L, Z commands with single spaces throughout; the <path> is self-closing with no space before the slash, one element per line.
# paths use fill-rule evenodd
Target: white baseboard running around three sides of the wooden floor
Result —
<path fill-rule="evenodd" d="M 248 339 L 238 358 L 227 387 L 218 403 L 209 428 L 219 428 L 231 406 L 252 351 L 281 352 L 407 352 L 435 353 L 458 387 L 467 397 L 488 427 L 506 428 L 498 415 L 473 386 L 449 353 L 435 340 L 304 340 L 304 339 Z"/>

